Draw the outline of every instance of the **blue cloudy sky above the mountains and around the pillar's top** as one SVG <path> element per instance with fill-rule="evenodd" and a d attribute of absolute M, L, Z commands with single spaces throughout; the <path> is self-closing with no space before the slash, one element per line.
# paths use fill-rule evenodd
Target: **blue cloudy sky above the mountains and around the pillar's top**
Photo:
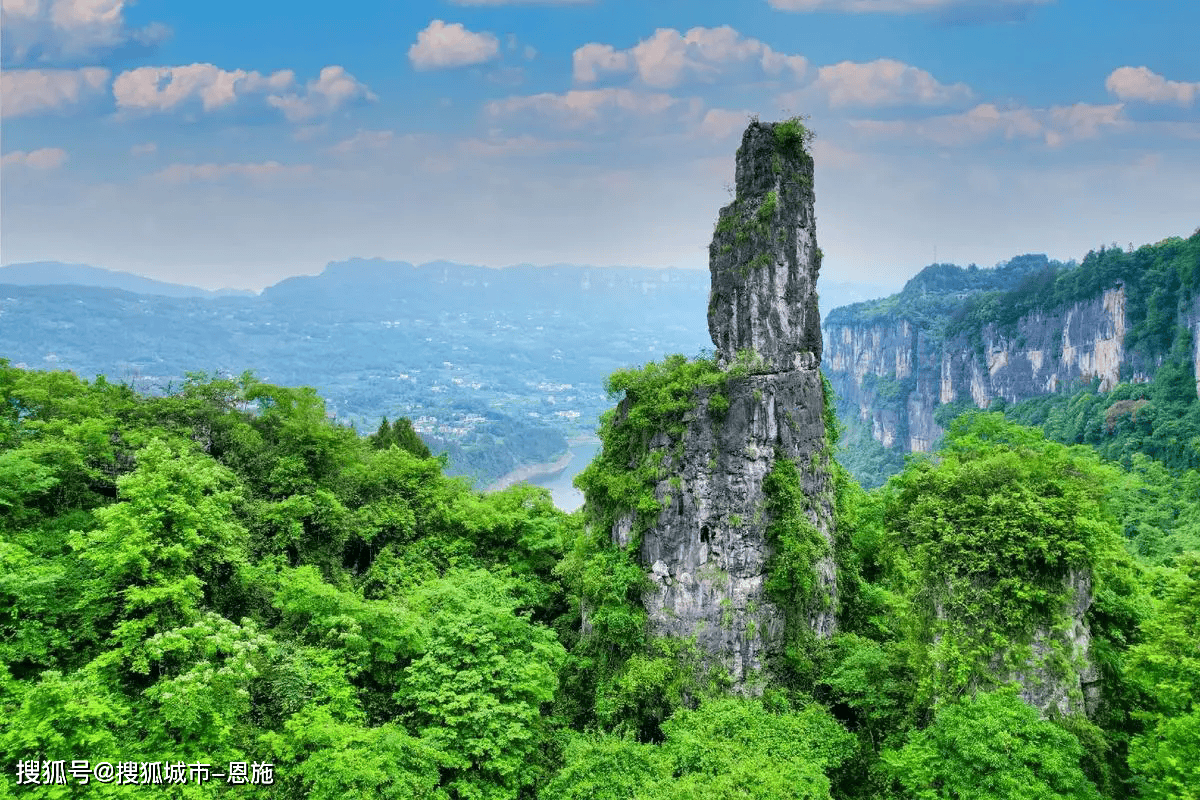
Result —
<path fill-rule="evenodd" d="M 707 266 L 751 115 L 826 281 L 1200 224 L 1196 0 L 2 0 L 0 263 Z"/>

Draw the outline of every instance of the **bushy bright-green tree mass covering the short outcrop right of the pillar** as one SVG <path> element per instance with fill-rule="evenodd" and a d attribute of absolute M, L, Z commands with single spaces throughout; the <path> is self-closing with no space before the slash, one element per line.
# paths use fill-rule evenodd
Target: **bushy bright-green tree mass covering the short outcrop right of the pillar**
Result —
<path fill-rule="evenodd" d="M 912 462 L 886 500 L 892 582 L 912 606 L 926 696 L 953 697 L 997 670 L 1078 682 L 1073 661 L 1085 654 L 1037 658 L 1030 640 L 1079 602 L 1078 576 L 1102 594 L 1128 569 L 1104 505 L 1115 471 L 1001 414 L 960 417 L 940 456 Z"/>

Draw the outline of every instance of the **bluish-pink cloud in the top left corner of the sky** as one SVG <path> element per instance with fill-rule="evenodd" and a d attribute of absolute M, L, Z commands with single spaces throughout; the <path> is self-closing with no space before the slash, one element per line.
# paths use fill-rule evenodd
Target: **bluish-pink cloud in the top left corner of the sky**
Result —
<path fill-rule="evenodd" d="M 2 0 L 5 61 L 91 58 L 130 43 L 155 44 L 170 35 L 160 23 L 131 29 L 126 0 Z"/>

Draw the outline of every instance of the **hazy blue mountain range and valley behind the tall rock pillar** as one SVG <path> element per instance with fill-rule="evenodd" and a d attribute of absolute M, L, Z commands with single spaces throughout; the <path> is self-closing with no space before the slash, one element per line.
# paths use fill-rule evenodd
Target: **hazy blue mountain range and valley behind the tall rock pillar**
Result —
<path fill-rule="evenodd" d="M 698 269 L 353 259 L 254 294 L 14 264 L 0 267 L 0 357 L 149 392 L 253 369 L 314 386 L 359 429 L 412 417 L 457 471 L 490 482 L 590 434 L 614 369 L 709 348 L 708 288 Z M 887 293 L 822 289 L 830 303 Z"/>

